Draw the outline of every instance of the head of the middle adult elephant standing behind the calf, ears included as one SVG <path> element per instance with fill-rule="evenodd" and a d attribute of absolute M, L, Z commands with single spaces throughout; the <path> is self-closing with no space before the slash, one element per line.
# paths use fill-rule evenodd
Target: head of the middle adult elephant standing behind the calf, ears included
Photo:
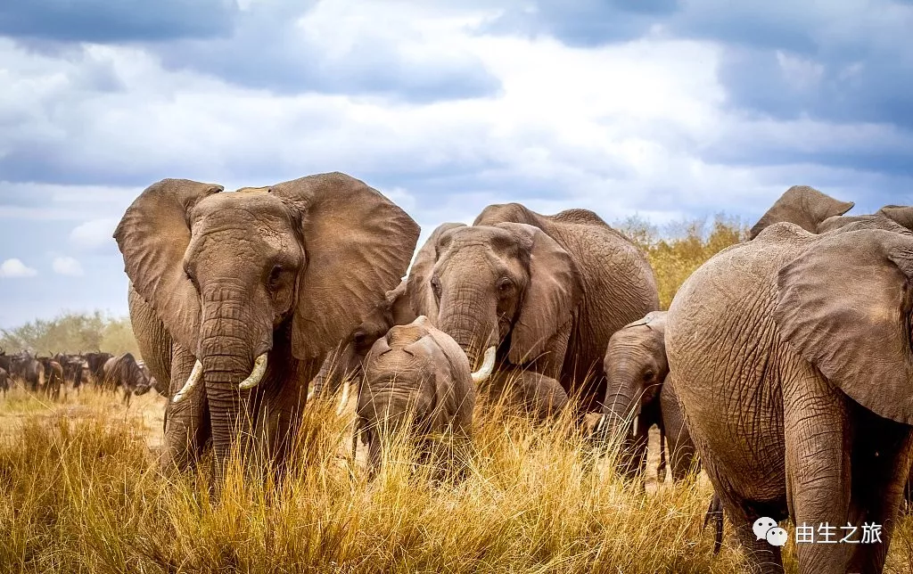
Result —
<path fill-rule="evenodd" d="M 470 365 L 502 342 L 514 364 L 540 359 L 582 296 L 572 257 L 530 224 L 446 225 L 416 256 L 409 291 L 434 302 Z"/>

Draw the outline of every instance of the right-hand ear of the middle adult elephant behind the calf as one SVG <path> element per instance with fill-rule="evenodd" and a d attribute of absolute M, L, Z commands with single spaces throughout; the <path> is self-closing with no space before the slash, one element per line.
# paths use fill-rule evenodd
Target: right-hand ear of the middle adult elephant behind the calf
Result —
<path fill-rule="evenodd" d="M 535 360 L 549 339 L 573 318 L 582 297 L 577 266 L 561 245 L 538 227 L 498 224 L 529 249 L 530 283 L 510 335 L 509 359 L 515 364 Z"/>

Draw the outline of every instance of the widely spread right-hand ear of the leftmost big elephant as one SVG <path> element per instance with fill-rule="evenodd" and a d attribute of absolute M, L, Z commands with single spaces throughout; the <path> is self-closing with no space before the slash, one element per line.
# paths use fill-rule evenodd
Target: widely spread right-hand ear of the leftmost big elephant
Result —
<path fill-rule="evenodd" d="M 298 281 L 292 353 L 319 360 L 396 287 L 419 227 L 377 190 L 345 173 L 309 175 L 269 191 L 301 214 L 308 264 Z"/>

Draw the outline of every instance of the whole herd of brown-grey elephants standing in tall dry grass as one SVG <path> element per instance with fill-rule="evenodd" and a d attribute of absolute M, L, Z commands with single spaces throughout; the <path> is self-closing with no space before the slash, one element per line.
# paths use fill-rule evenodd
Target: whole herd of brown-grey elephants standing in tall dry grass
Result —
<path fill-rule="evenodd" d="M 631 475 L 657 425 L 673 478 L 699 460 L 758 571 L 782 571 L 759 517 L 884 524 L 882 545 L 798 548 L 803 572 L 880 571 L 913 448 L 913 208 L 851 207 L 790 188 L 667 312 L 645 253 L 592 211 L 493 204 L 415 251 L 415 221 L 340 172 L 166 179 L 114 238 L 171 398 L 163 468 L 211 444 L 216 488 L 234 450 L 281 470 L 305 402 L 357 388 L 376 471 L 384 428 L 471 444 L 486 391 L 537 421 L 594 413 Z"/>

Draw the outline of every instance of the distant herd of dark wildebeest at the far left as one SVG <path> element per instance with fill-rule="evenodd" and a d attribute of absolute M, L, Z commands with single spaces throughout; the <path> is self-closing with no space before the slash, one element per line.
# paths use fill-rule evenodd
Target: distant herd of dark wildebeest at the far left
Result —
<path fill-rule="evenodd" d="M 79 391 L 84 384 L 93 384 L 101 391 L 121 391 L 123 402 L 130 404 L 131 395 L 142 395 L 151 389 L 165 389 L 149 373 L 142 360 L 131 353 L 112 355 L 106 352 L 81 354 L 53 353 L 35 355 L 23 350 L 7 354 L 0 350 L 0 390 L 4 396 L 13 382 L 19 381 L 27 390 L 60 400 L 65 386 Z"/>

